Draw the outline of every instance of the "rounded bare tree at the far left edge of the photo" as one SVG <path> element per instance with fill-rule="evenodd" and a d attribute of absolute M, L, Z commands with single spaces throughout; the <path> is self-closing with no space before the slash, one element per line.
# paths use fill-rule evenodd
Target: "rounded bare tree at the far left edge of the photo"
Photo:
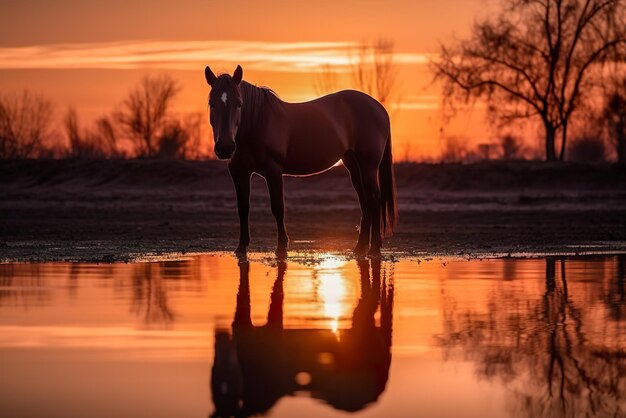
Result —
<path fill-rule="evenodd" d="M 0 158 L 36 156 L 53 135 L 54 106 L 29 91 L 0 97 Z"/>

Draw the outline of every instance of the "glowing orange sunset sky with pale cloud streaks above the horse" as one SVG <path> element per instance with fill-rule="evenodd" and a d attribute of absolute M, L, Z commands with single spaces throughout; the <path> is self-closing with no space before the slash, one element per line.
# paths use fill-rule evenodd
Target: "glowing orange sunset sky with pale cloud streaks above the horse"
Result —
<path fill-rule="evenodd" d="M 345 71 L 350 50 L 385 37 L 395 44 L 389 105 L 396 155 L 432 158 L 445 134 L 485 141 L 482 117 L 451 124 L 428 60 L 441 42 L 469 33 L 496 0 L 78 1 L 0 0 L 0 93 L 29 89 L 89 121 L 110 112 L 146 74 L 180 81 L 179 112 L 206 112 L 204 67 L 232 72 L 286 101 L 316 97 L 320 66 Z M 349 77 L 341 77 L 349 87 Z"/>

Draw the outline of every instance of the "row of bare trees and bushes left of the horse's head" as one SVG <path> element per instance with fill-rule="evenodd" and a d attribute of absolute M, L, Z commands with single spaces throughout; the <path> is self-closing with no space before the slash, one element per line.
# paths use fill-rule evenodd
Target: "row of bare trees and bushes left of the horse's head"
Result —
<path fill-rule="evenodd" d="M 180 86 L 169 75 L 144 77 L 110 114 L 82 124 L 42 95 L 0 96 L 0 158 L 213 158 L 200 112 L 172 104 Z"/>

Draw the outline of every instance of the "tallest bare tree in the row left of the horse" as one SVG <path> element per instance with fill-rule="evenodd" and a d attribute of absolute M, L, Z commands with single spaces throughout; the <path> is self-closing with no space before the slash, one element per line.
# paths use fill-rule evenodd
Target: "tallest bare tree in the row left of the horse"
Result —
<path fill-rule="evenodd" d="M 137 155 L 152 157 L 157 154 L 158 138 L 179 91 L 178 83 L 169 75 L 146 76 L 122 103 L 116 119 L 134 142 Z"/>

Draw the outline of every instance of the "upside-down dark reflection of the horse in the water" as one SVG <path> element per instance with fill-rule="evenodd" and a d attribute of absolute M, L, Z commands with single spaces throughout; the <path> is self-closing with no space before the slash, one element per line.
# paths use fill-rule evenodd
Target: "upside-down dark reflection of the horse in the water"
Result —
<path fill-rule="evenodd" d="M 380 260 L 358 261 L 361 297 L 352 326 L 338 334 L 325 329 L 283 327 L 283 280 L 278 264 L 267 323 L 250 315 L 249 264 L 240 268 L 232 334 L 217 330 L 211 372 L 213 417 L 263 414 L 284 396 L 307 395 L 334 408 L 357 411 L 385 390 L 391 364 L 393 284 L 381 282 Z M 380 326 L 375 314 L 380 307 Z"/>

